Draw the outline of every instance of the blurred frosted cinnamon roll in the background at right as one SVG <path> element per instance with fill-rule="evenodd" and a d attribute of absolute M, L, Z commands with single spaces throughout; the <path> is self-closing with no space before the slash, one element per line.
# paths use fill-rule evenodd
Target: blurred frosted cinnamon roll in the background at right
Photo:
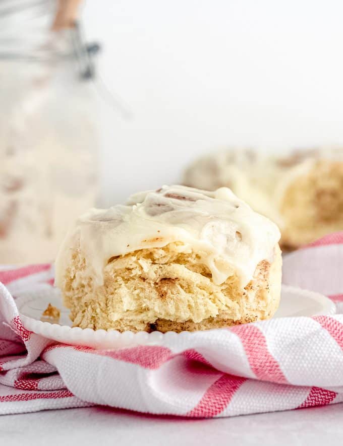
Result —
<path fill-rule="evenodd" d="M 195 161 L 185 184 L 227 186 L 281 230 L 282 249 L 296 249 L 343 229 L 343 149 L 296 150 L 270 156 L 250 149 Z"/>

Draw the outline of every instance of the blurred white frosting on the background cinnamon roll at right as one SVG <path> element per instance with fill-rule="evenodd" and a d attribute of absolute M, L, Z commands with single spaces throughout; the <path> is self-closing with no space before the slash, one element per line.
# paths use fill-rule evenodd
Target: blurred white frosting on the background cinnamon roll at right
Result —
<path fill-rule="evenodd" d="M 292 182 L 309 173 L 318 160 L 342 157 L 339 147 L 298 149 L 282 155 L 232 148 L 197 159 L 186 170 L 184 184 L 208 190 L 228 186 L 282 231 L 285 221 L 281 207 Z"/>

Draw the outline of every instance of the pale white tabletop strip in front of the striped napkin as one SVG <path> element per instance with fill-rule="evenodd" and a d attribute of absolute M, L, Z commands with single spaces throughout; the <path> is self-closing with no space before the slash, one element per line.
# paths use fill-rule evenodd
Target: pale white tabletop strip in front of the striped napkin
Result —
<path fill-rule="evenodd" d="M 154 417 L 92 407 L 0 417 L 0 444 L 83 446 L 343 444 L 343 404 L 218 419 Z"/>

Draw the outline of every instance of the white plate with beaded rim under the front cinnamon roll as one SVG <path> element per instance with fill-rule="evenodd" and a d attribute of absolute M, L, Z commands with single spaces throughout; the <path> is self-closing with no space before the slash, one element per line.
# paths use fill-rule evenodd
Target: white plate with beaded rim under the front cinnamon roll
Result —
<path fill-rule="evenodd" d="M 71 327 L 68 317 L 69 310 L 62 304 L 61 294 L 57 288 L 41 285 L 39 288 L 23 293 L 16 299 L 16 303 L 27 330 L 54 341 L 83 345 L 93 348 L 118 348 L 133 345 L 163 345 L 170 337 L 187 336 L 188 332 L 176 334 L 169 333 L 146 333 L 146 332 L 124 332 L 117 330 L 91 330 Z M 61 309 L 60 324 L 41 322 L 42 312 L 48 303 Z M 301 290 L 300 288 L 282 285 L 281 301 L 274 317 L 314 316 L 334 314 L 334 303 L 319 293 Z M 196 335 L 197 332 L 192 335 Z"/>

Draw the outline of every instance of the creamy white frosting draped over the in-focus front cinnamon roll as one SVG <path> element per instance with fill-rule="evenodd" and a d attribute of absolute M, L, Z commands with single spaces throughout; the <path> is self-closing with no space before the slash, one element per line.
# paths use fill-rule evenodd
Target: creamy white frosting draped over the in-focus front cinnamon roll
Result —
<path fill-rule="evenodd" d="M 76 243 L 94 286 L 112 257 L 138 249 L 179 242 L 180 252 L 194 251 L 215 284 L 238 274 L 242 288 L 262 260 L 273 260 L 280 238 L 277 226 L 254 212 L 227 187 L 207 192 L 173 185 L 133 195 L 127 205 L 90 209 L 71 228 L 56 258 L 57 286 Z"/>

